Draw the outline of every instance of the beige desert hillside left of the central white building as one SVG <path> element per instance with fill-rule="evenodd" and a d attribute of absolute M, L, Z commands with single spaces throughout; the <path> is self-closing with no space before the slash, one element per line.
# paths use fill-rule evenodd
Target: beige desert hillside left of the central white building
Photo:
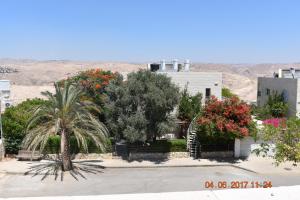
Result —
<path fill-rule="evenodd" d="M 79 71 L 102 68 L 119 71 L 126 75 L 128 72 L 145 68 L 146 65 L 118 62 L 0 59 L 0 67 L 12 69 L 11 73 L 0 73 L 0 78 L 11 81 L 12 100 L 14 103 L 19 103 L 27 98 L 42 97 L 40 94 L 42 91 L 53 91 L 55 81 L 72 76 Z"/>

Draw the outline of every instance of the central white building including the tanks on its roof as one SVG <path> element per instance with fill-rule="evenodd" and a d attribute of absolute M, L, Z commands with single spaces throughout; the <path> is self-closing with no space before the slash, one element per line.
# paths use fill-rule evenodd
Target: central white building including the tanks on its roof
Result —
<path fill-rule="evenodd" d="M 171 77 L 172 81 L 182 90 L 187 85 L 188 91 L 192 95 L 200 92 L 203 104 L 211 96 L 222 98 L 222 73 L 220 72 L 192 72 L 189 60 L 182 63 L 178 60 L 172 62 L 163 60 L 159 63 L 148 64 L 148 69 Z"/>

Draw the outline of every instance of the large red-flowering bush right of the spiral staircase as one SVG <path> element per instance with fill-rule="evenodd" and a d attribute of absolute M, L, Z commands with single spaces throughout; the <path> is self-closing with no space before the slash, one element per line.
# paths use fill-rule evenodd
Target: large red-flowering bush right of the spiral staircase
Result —
<path fill-rule="evenodd" d="M 242 138 L 255 132 L 250 106 L 237 97 L 223 101 L 212 97 L 198 118 L 199 133 L 223 138 Z"/>

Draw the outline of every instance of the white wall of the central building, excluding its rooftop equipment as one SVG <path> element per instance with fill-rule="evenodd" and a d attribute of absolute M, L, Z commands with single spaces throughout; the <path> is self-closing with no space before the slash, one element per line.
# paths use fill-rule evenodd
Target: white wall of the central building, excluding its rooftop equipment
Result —
<path fill-rule="evenodd" d="M 222 73 L 219 72 L 158 72 L 166 74 L 181 89 L 188 83 L 188 91 L 195 95 L 202 93 L 202 103 L 205 102 L 205 89 L 211 88 L 211 95 L 222 98 Z"/>

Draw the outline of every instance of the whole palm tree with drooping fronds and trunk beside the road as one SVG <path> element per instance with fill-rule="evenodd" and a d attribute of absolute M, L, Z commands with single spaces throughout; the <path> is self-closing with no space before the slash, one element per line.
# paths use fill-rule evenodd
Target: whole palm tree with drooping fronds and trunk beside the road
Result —
<path fill-rule="evenodd" d="M 100 112 L 90 101 L 81 101 L 82 91 L 66 82 L 63 87 L 55 84 L 56 94 L 43 92 L 48 104 L 41 105 L 33 111 L 30 118 L 23 147 L 40 152 L 45 148 L 51 135 L 60 135 L 62 170 L 72 170 L 70 155 L 70 136 L 73 135 L 78 146 L 88 151 L 87 138 L 98 148 L 105 150 L 108 131 L 92 112 Z"/>

